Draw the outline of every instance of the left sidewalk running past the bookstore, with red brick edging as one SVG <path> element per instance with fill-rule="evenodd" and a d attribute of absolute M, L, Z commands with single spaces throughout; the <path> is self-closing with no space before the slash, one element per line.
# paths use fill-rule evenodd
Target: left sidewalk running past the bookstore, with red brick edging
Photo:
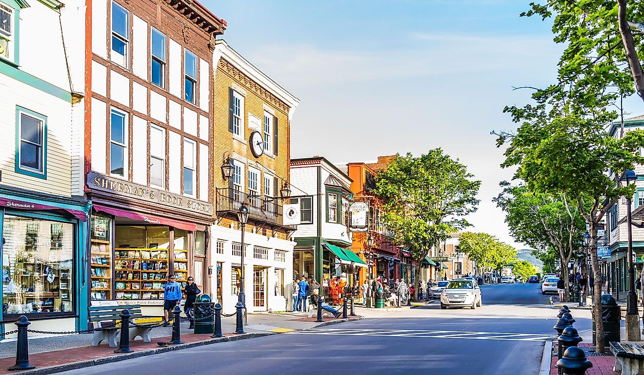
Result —
<path fill-rule="evenodd" d="M 402 311 L 404 309 L 410 309 L 410 307 L 392 307 L 388 309 L 356 307 L 355 312 L 357 316 L 349 316 L 348 319 L 336 319 L 323 316 L 322 323 L 315 322 L 316 316 L 308 318 L 307 313 L 251 314 L 248 316 L 248 325 L 244 326 L 245 334 L 233 333 L 235 331 L 235 318 L 232 316 L 222 318 L 222 331 L 224 334 L 222 338 L 211 338 L 211 334 L 194 334 L 192 330 L 187 329 L 188 323 L 185 322 L 182 323 L 181 330 L 182 344 L 167 345 L 166 347 L 158 345 L 157 342 L 169 342 L 172 334 L 172 327 L 158 327 L 153 329 L 151 333 L 151 342 L 144 343 L 140 339 L 130 342 L 130 347 L 134 352 L 125 354 L 115 354 L 114 350 L 117 348 L 108 347 L 105 343 L 97 347 L 91 346 L 91 334 L 33 338 L 29 340 L 29 360 L 31 365 L 36 366 L 36 369 L 21 372 L 6 370 L 7 367 L 15 363 L 16 342 L 15 340 L 5 340 L 5 342 L 0 342 L 0 375 L 8 373 L 52 374 L 53 372 L 61 372 L 63 370 L 90 367 L 100 363 L 122 361 L 129 358 L 187 349 L 199 345 L 209 345 L 216 342 L 242 340 L 245 338 L 267 336 L 269 334 L 310 329 L 339 322 L 360 320 L 365 317 L 377 317 L 387 311 Z M 52 351 L 52 349 L 56 350 Z"/>

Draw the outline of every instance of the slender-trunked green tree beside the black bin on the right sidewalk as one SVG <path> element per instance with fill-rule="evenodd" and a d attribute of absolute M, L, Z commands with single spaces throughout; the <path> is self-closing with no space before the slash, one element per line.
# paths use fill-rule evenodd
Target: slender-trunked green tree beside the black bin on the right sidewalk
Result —
<path fill-rule="evenodd" d="M 549 114 L 541 112 L 536 118 L 527 116 L 522 120 L 518 133 L 506 138 L 509 145 L 502 166 L 516 166 L 515 178 L 524 180 L 529 190 L 565 194 L 576 201 L 590 228 L 595 280 L 593 308 L 594 316 L 600 319 L 597 226 L 618 197 L 634 194 L 634 186 L 622 187 L 616 181 L 623 171 L 633 169 L 636 163 L 644 163 L 644 158 L 636 152 L 644 147 L 644 131 L 629 131 L 623 138 L 613 138 L 605 133 L 603 123 L 575 114 L 550 118 Z M 585 206 L 588 201 L 590 205 Z M 601 321 L 596 321 L 596 325 L 597 350 L 603 352 Z"/>

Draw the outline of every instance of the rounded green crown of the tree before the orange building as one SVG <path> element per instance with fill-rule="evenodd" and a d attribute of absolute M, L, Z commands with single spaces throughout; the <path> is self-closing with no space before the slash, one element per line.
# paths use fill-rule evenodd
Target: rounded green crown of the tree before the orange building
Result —
<path fill-rule="evenodd" d="M 477 209 L 480 181 L 442 149 L 418 158 L 397 155 L 376 176 L 373 191 L 383 200 L 384 222 L 392 241 L 421 261 L 429 250 L 465 228 L 463 219 Z"/>

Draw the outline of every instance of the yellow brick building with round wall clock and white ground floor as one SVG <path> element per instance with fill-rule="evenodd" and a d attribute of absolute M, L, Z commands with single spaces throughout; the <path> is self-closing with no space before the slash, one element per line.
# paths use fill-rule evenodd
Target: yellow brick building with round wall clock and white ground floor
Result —
<path fill-rule="evenodd" d="M 213 296 L 232 313 L 243 275 L 249 313 L 285 311 L 296 228 L 283 224 L 280 191 L 290 186 L 290 123 L 299 100 L 223 40 L 215 41 L 213 69 L 213 171 L 232 164 L 230 177 L 213 172 Z"/>

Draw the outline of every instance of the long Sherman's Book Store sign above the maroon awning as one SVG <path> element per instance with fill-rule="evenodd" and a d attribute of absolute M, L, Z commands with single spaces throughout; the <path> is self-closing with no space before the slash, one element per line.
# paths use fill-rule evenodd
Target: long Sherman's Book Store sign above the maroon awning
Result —
<path fill-rule="evenodd" d="M 171 208 L 179 208 L 204 215 L 213 214 L 213 205 L 210 203 L 197 201 L 196 199 L 164 190 L 138 185 L 129 181 L 123 181 L 122 179 L 103 176 L 102 174 L 94 172 L 87 174 L 87 186 L 93 190 L 118 194 L 119 196 L 149 203 L 157 203 L 158 205 Z"/>

